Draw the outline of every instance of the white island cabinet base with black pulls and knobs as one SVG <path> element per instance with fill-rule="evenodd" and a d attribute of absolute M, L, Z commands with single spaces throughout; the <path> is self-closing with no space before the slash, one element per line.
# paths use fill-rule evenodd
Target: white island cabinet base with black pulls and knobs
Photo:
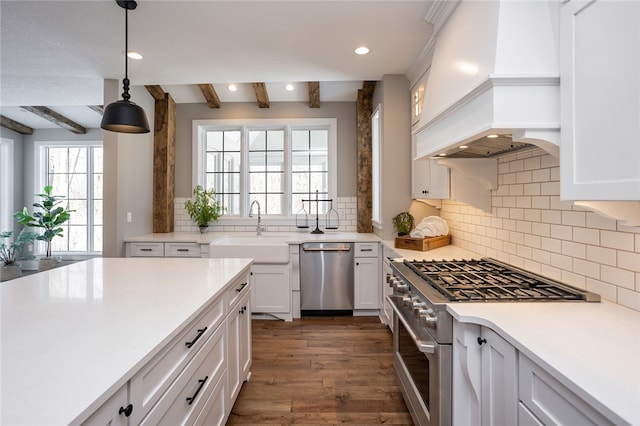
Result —
<path fill-rule="evenodd" d="M 230 283 L 86 424 L 223 424 L 251 367 L 250 300 L 247 274 Z M 120 411 L 129 405 L 126 419 Z"/>

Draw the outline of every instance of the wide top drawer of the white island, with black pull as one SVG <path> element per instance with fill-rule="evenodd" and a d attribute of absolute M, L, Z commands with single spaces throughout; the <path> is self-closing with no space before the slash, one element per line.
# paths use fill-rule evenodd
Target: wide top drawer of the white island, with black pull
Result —
<path fill-rule="evenodd" d="M 132 424 L 137 424 L 158 401 L 171 382 L 198 352 L 224 318 L 223 297 L 191 322 L 162 351 L 131 379 L 131 400 L 136 407 Z"/>

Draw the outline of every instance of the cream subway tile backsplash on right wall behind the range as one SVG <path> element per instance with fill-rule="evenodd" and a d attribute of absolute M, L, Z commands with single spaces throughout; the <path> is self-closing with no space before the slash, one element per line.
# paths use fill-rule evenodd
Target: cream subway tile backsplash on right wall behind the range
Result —
<path fill-rule="evenodd" d="M 559 162 L 540 149 L 498 161 L 491 214 L 443 200 L 454 243 L 640 311 L 640 227 L 561 201 Z"/>

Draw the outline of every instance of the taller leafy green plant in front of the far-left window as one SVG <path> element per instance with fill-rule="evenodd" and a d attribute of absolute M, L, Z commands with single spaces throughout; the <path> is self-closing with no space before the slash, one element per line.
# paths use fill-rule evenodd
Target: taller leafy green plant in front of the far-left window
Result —
<path fill-rule="evenodd" d="M 44 193 L 37 194 L 42 198 L 41 202 L 33 203 L 34 210 L 33 215 L 29 214 L 29 211 L 25 207 L 21 211 L 14 213 L 14 217 L 19 224 L 42 229 L 42 233 L 36 237 L 39 241 L 44 241 L 46 244 L 45 257 L 38 260 L 38 270 L 44 271 L 53 268 L 60 260 L 51 256 L 51 240 L 56 236 L 63 236 L 62 224 L 69 220 L 71 212 L 62 207 L 61 195 L 52 195 L 51 185 L 44 187 Z"/>

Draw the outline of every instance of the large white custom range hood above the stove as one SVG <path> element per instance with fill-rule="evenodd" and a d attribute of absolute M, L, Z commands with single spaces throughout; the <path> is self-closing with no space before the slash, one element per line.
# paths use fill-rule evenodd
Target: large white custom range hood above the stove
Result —
<path fill-rule="evenodd" d="M 540 0 L 458 4 L 434 36 L 416 158 L 494 157 L 530 145 L 558 157 L 558 10 Z M 489 134 L 504 136 L 492 145 Z"/>

